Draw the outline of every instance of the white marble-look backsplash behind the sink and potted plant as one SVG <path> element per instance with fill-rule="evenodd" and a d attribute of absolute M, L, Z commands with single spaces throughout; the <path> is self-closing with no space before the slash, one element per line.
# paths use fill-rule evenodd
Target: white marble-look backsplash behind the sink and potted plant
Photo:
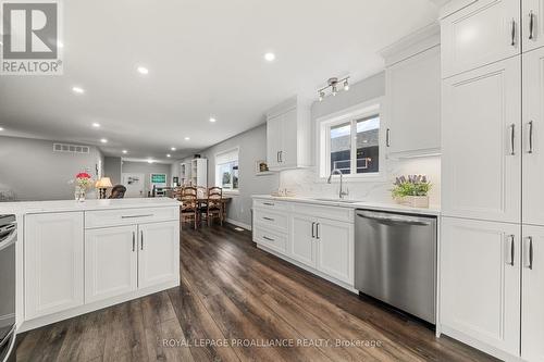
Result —
<path fill-rule="evenodd" d="M 440 205 L 440 175 L 441 158 L 425 157 L 403 160 L 387 160 L 385 162 L 386 182 L 353 182 L 344 178 L 344 185 L 348 188 L 347 198 L 357 200 L 369 200 L 380 202 L 393 202 L 391 188 L 396 176 L 408 174 L 426 175 L 433 187 L 429 194 L 430 203 Z M 339 176 L 334 176 L 338 178 Z M 318 179 L 316 167 L 288 170 L 280 173 L 280 188 L 288 189 L 300 197 L 331 197 L 338 195 L 339 184 L 327 184 L 326 179 Z"/>

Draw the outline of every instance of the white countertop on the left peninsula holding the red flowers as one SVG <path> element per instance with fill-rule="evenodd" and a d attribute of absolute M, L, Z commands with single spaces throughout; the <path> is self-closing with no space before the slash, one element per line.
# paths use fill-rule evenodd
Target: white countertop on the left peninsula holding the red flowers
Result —
<path fill-rule="evenodd" d="M 44 212 L 90 211 L 107 209 L 137 209 L 177 207 L 181 202 L 170 198 L 134 198 L 134 199 L 104 199 L 58 201 L 21 201 L 0 202 L 0 214 L 32 214 Z"/>

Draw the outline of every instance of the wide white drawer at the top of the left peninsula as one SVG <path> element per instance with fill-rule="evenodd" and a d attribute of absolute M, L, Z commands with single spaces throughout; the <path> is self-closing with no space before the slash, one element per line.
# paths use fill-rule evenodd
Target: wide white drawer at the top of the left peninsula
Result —
<path fill-rule="evenodd" d="M 85 228 L 180 220 L 178 208 L 97 210 L 85 212 Z"/>

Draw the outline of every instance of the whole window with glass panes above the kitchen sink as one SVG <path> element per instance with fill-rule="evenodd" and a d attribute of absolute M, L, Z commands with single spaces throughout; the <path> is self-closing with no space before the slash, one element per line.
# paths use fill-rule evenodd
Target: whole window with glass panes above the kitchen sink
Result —
<path fill-rule="evenodd" d="M 338 170 L 350 177 L 380 175 L 380 104 L 321 121 L 320 177 Z"/>

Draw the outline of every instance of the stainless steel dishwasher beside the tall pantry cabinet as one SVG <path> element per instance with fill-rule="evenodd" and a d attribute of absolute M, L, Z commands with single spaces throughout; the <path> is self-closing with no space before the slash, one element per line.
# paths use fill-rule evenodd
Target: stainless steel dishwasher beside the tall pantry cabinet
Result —
<path fill-rule="evenodd" d="M 357 210 L 355 287 L 435 324 L 436 217 Z"/>

